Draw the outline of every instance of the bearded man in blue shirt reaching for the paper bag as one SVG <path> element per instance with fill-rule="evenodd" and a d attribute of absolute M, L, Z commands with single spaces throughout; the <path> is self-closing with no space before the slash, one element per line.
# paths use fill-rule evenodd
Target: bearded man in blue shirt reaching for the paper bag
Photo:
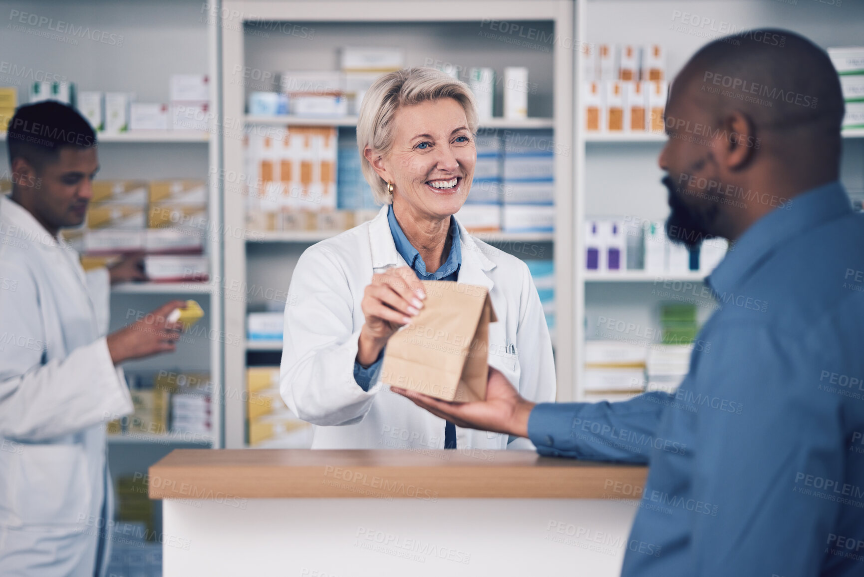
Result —
<path fill-rule="evenodd" d="M 491 370 L 486 401 L 397 392 L 543 455 L 649 465 L 622 575 L 864 574 L 864 218 L 838 181 L 843 112 L 828 55 L 786 30 L 711 42 L 672 84 L 667 234 L 733 243 L 676 391 L 535 405 Z"/>

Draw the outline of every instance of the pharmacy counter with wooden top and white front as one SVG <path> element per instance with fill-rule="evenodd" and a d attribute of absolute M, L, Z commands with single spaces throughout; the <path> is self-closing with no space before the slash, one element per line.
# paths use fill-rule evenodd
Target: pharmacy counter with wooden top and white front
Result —
<path fill-rule="evenodd" d="M 177 449 L 163 574 L 617 575 L 645 467 L 523 451 Z"/>

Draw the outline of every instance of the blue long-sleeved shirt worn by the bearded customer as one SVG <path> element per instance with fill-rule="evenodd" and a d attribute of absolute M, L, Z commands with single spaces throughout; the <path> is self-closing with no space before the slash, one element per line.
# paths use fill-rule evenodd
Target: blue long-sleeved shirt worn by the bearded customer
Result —
<path fill-rule="evenodd" d="M 864 216 L 840 183 L 774 206 L 708 279 L 676 392 L 530 414 L 544 455 L 650 465 L 607 487 L 641 493 L 624 577 L 864 572 Z"/>

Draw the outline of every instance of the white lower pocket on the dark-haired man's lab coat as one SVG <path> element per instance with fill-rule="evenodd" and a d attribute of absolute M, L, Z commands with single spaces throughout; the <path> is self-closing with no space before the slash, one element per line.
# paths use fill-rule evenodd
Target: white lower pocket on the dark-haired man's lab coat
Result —
<path fill-rule="evenodd" d="M 81 523 L 90 515 L 92 487 L 84 447 L 23 445 L 7 487 L 10 509 L 24 525 Z"/>

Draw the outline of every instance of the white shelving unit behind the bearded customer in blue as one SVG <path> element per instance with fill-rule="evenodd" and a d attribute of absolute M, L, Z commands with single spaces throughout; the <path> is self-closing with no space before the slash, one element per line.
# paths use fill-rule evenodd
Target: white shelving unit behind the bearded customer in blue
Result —
<path fill-rule="evenodd" d="M 681 15 L 696 14 L 704 26 L 682 24 Z M 667 53 L 666 78 L 671 79 L 691 54 L 711 38 L 715 30 L 759 27 L 793 29 L 814 42 L 829 46 L 860 45 L 864 5 L 844 3 L 763 3 L 758 0 L 575 0 L 575 45 L 661 44 Z M 670 27 L 670 23 L 675 26 Z M 657 274 L 644 271 L 595 273 L 584 270 L 585 243 L 581 233 L 586 218 L 633 215 L 663 221 L 668 215 L 666 191 L 657 157 L 666 138 L 657 133 L 607 134 L 584 130 L 580 97 L 584 83 L 582 62 L 575 63 L 575 194 L 576 225 L 573 311 L 575 324 L 575 375 L 581 382 L 584 346 L 600 324 L 600 316 L 626 320 L 642 327 L 658 328 L 658 304 L 670 294 L 664 287 L 688 295 L 702 294 L 689 287 L 701 286 L 698 272 Z M 842 182 L 850 191 L 864 191 L 864 130 L 844 131 Z M 704 319 L 709 303 L 698 306 Z M 576 398 L 583 391 L 576 387 Z"/>

